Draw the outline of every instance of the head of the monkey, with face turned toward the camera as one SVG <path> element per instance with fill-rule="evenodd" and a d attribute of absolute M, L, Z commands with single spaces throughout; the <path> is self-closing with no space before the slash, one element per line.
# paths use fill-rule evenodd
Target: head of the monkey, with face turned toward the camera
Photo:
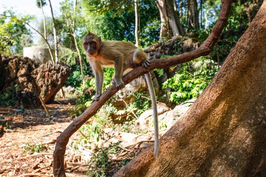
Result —
<path fill-rule="evenodd" d="M 100 49 L 101 38 L 93 33 L 88 33 L 83 38 L 83 48 L 89 56 L 96 56 Z"/>

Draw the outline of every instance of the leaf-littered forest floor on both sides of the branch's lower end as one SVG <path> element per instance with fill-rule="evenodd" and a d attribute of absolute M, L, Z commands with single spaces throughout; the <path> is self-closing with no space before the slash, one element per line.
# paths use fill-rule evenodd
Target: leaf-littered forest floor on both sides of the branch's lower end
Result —
<path fill-rule="evenodd" d="M 52 120 L 42 108 L 0 108 L 0 177 L 53 176 L 56 138 L 74 119 L 71 117 L 74 102 L 60 100 L 60 103 L 47 105 Z M 94 143 L 86 141 L 88 137 L 81 131 L 71 136 L 65 153 L 66 176 L 111 176 L 143 148 L 153 144 L 150 143 L 151 135 L 131 134 L 109 127 L 103 128 L 102 132 L 100 141 Z M 87 143 L 84 144 L 81 138 Z M 142 142 L 141 146 L 136 142 Z M 115 151 L 110 152 L 113 148 Z M 89 169 L 90 174 L 86 174 Z"/>

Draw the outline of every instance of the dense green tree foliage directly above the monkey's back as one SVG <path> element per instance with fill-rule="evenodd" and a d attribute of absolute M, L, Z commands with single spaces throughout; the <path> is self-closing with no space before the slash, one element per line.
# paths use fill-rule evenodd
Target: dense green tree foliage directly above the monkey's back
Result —
<path fill-rule="evenodd" d="M 133 3 L 133 1 L 83 1 L 83 10 L 88 17 L 87 28 L 101 35 L 104 40 L 135 42 Z M 160 24 L 160 15 L 155 2 L 141 0 L 138 3 L 140 45 L 144 47 L 159 39 L 160 28 L 157 25 Z"/>

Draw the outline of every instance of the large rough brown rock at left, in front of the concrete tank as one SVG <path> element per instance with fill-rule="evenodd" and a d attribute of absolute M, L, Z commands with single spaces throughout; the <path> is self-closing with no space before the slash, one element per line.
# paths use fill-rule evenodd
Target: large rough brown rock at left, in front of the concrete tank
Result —
<path fill-rule="evenodd" d="M 22 91 L 40 95 L 48 103 L 63 86 L 70 68 L 63 63 L 39 65 L 27 57 L 6 57 L 0 62 L 0 72 L 0 91 L 17 83 Z"/>

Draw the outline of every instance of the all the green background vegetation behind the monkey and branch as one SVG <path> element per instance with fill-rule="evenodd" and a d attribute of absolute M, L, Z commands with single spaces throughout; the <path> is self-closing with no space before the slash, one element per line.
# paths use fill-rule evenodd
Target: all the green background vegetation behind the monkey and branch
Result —
<path fill-rule="evenodd" d="M 36 2 L 38 3 L 39 1 Z M 42 2 L 43 5 L 46 6 L 46 1 Z M 180 18 L 185 36 L 196 39 L 201 43 L 210 33 L 217 19 L 221 3 L 217 0 L 201 0 L 195 2 L 199 26 L 193 26 L 192 23 L 195 22 L 189 21 L 191 17 L 189 8 L 193 8 L 189 7 L 189 0 L 171 1 L 175 12 Z M 233 49 L 238 38 L 248 27 L 261 2 L 262 1 L 256 0 L 234 1 L 227 26 L 210 55 L 201 57 L 193 62 L 185 63 L 181 66 L 173 67 L 174 69 L 170 68 L 170 70 L 173 70 L 171 74 L 169 74 L 169 70 L 166 69 L 155 70 L 155 75 L 160 83 L 158 100 L 173 106 L 186 100 L 197 98 L 210 83 L 227 54 Z M 165 42 L 174 36 L 173 30 L 171 29 L 168 29 L 167 36 L 160 36 L 160 29 L 162 26 L 156 1 L 139 0 L 138 17 L 140 48 L 145 49 L 156 42 Z M 19 15 L 11 9 L 6 9 L 4 12 L 0 13 L 1 55 L 20 56 L 22 55 L 23 47 L 33 45 L 32 30 L 28 26 L 33 20 L 36 20 L 36 17 Z M 74 26 L 72 25 L 73 22 Z M 53 19 L 46 17 L 47 41 L 50 46 L 54 48 L 52 23 Z M 168 24 L 165 25 L 167 26 Z M 37 21 L 35 26 L 37 30 L 44 33 L 45 29 L 42 20 Z M 135 43 L 134 1 L 80 0 L 77 1 L 77 5 L 74 6 L 74 1 L 64 0 L 60 3 L 60 14 L 55 17 L 55 27 L 57 29 L 59 61 L 66 63 L 72 70 L 65 86 L 72 86 L 77 89 L 79 93 L 75 102 L 76 106 L 72 111 L 73 116 L 78 116 L 91 104 L 95 93 L 95 80 L 86 55 L 82 50 L 82 37 L 88 31 L 92 31 L 100 35 L 103 40 L 125 40 Z M 73 31 L 76 39 L 74 38 Z M 75 46 L 75 40 L 77 40 L 77 46 Z M 184 38 L 180 38 L 180 43 L 182 43 L 183 40 Z M 37 45 L 46 46 L 44 38 L 40 38 Z M 81 53 L 81 62 L 79 60 L 78 50 Z M 179 52 L 174 53 L 174 55 L 177 54 L 179 54 Z M 85 85 L 82 84 L 81 63 L 83 64 L 82 69 L 86 80 Z M 105 90 L 111 84 L 113 69 L 104 68 L 104 71 Z M 165 74 L 168 75 L 168 78 L 163 80 L 162 77 Z M 88 89 L 90 89 L 90 94 L 88 93 Z M 14 106 L 16 103 L 15 92 L 16 87 L 10 89 L 8 92 L 1 92 L 0 106 Z M 93 124 L 86 124 L 83 126 L 81 131 L 86 132 L 86 138 L 82 137 L 77 143 L 77 146 L 73 146 L 73 149 L 77 148 L 79 144 L 92 143 L 94 139 L 100 139 L 103 133 L 102 130 L 105 127 L 121 129 L 127 132 L 138 132 L 138 129 L 134 126 L 136 121 L 134 114 L 138 117 L 151 107 L 149 100 L 142 96 L 149 97 L 146 93 L 130 95 L 135 101 L 130 103 L 123 110 L 128 115 L 128 121 L 123 125 L 113 123 L 110 118 L 106 121 L 106 117 L 122 111 L 113 104 L 118 100 L 117 96 L 109 100 L 101 110 L 100 115 L 104 116 L 94 117 L 95 121 Z M 108 154 L 115 153 L 117 148 L 117 144 L 111 144 L 108 148 L 97 149 L 91 162 L 91 168 L 94 169 L 92 170 L 94 172 L 90 174 L 93 176 L 104 176 L 109 174 L 108 170 L 106 170 L 110 165 Z M 30 144 L 24 147 L 24 150 L 29 153 L 42 151 L 43 149 L 45 149 L 45 147 Z M 123 161 L 121 164 L 124 165 L 127 161 Z"/>

